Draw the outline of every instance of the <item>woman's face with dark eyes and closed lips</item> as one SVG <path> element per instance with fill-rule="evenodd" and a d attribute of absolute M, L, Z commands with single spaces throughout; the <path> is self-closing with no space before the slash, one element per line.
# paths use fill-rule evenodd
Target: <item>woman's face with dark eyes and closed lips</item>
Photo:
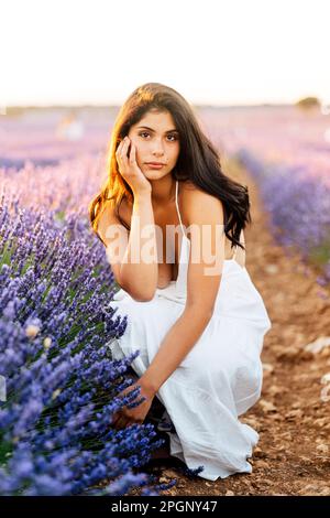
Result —
<path fill-rule="evenodd" d="M 179 155 L 179 136 L 168 111 L 148 111 L 131 126 L 129 138 L 136 148 L 136 162 L 146 177 L 161 179 L 175 166 Z M 146 162 L 162 162 L 152 169 Z"/>

